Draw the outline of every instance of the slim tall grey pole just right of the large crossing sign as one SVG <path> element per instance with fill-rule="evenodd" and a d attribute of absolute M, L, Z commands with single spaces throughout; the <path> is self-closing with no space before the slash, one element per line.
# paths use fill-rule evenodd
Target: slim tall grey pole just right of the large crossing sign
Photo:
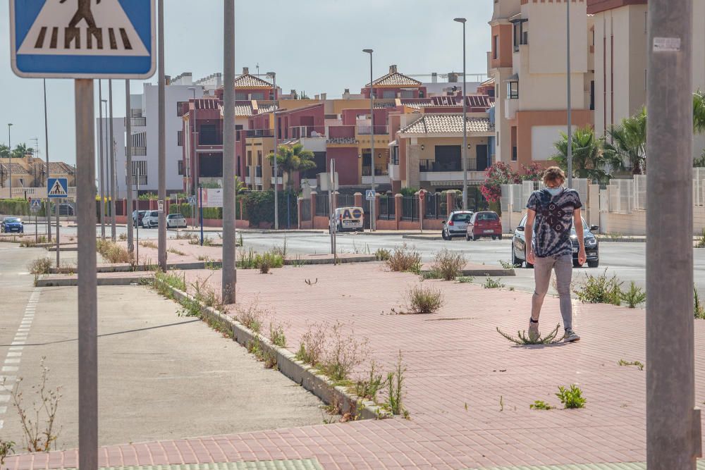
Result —
<path fill-rule="evenodd" d="M 157 244 L 159 259 L 159 268 L 166 272 L 166 109 L 164 109 L 164 95 L 166 94 L 166 73 L 164 72 L 164 0 L 158 0 L 157 23 L 159 23 L 159 41 L 158 52 L 159 58 L 157 62 L 157 75 L 159 75 L 159 240 Z M 233 125 L 235 120 L 233 120 Z"/>

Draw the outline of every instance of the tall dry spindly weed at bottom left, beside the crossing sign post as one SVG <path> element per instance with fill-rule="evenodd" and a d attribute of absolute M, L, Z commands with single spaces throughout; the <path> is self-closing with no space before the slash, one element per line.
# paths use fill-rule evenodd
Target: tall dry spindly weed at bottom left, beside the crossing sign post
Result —
<path fill-rule="evenodd" d="M 20 416 L 20 424 L 23 431 L 23 443 L 27 452 L 49 452 L 51 447 L 56 449 L 56 439 L 59 438 L 59 431 L 56 431 L 56 409 L 61 401 L 61 388 L 49 389 L 47 378 L 49 368 L 44 366 L 42 357 L 39 366 L 42 368 L 42 378 L 39 385 L 33 385 L 36 399 L 32 400 L 32 408 L 25 406 L 24 392 L 20 391 L 22 378 L 19 378 L 12 390 L 12 403 Z"/>

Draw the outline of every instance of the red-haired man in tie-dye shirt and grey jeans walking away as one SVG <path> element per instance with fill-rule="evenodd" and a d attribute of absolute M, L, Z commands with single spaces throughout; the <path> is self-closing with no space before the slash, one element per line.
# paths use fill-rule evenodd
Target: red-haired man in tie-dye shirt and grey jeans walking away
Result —
<path fill-rule="evenodd" d="M 527 202 L 525 236 L 527 262 L 534 265 L 536 287 L 532 297 L 529 338 L 539 338 L 539 315 L 544 297 L 548 292 L 551 270 L 556 272 L 556 289 L 560 297 L 560 316 L 563 317 L 565 335 L 563 341 L 580 340 L 572 329 L 572 302 L 570 280 L 572 279 L 572 241 L 570 232 L 575 223 L 577 235 L 578 263 L 587 260 L 583 240 L 580 195 L 575 190 L 563 187 L 565 173 L 557 166 L 544 171 L 543 190 L 532 192 Z"/>

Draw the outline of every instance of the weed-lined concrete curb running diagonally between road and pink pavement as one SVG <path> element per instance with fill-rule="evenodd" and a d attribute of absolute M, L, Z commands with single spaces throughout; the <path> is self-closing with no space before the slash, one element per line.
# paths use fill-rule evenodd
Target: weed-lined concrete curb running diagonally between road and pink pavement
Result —
<path fill-rule="evenodd" d="M 186 292 L 182 292 L 169 285 L 164 285 L 164 287 L 171 290 L 173 298 L 179 303 L 184 300 L 188 302 L 196 302 L 194 297 L 188 295 Z M 307 366 L 307 364 L 304 364 L 296 359 L 293 352 L 272 344 L 268 338 L 264 338 L 264 336 L 255 333 L 239 321 L 222 314 L 213 307 L 207 307 L 201 302 L 199 302 L 199 306 L 201 314 L 206 319 L 210 319 L 216 323 L 225 323 L 230 326 L 233 340 L 238 342 L 241 346 L 247 347 L 247 345 L 253 340 L 259 340 L 259 347 L 261 347 L 265 352 L 274 353 L 276 355 L 276 366 L 278 371 L 283 373 L 295 383 L 301 385 L 309 392 L 312 392 L 326 404 L 339 404 L 343 414 L 359 414 L 362 419 L 379 419 L 382 417 L 386 418 L 392 416 L 374 402 L 370 400 L 362 400 L 360 397 L 348 393 L 345 388 L 336 386 L 328 377 L 317 373 L 317 371 L 315 371 L 312 367 Z M 357 404 L 362 405 L 361 410 L 356 410 Z"/>

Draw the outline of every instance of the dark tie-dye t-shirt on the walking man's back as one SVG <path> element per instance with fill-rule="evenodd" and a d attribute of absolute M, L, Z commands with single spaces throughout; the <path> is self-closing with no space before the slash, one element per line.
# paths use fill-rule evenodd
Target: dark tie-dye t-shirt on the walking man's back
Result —
<path fill-rule="evenodd" d="M 576 190 L 563 188 L 555 196 L 551 196 L 546 189 L 532 192 L 527 209 L 536 211 L 532 238 L 536 256 L 545 258 L 572 253 L 572 216 L 573 211 L 580 207 L 582 203 Z"/>

